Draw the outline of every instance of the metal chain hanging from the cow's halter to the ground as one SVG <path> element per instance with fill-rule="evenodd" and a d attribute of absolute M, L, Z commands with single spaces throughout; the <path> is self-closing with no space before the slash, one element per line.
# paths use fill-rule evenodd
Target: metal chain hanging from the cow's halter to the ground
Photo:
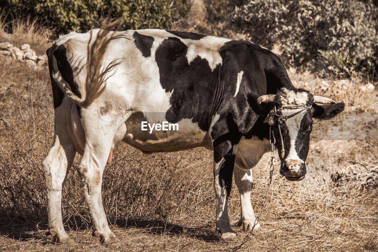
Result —
<path fill-rule="evenodd" d="M 272 127 L 270 127 L 270 132 L 269 132 L 269 141 L 270 141 L 270 144 L 272 145 L 272 148 L 271 148 L 271 152 L 270 152 L 270 169 L 269 169 L 269 179 L 268 179 L 268 184 L 266 184 L 266 194 L 265 194 L 265 197 L 262 201 L 262 207 L 260 209 L 260 212 L 259 214 L 257 215 L 256 219 L 255 219 L 255 222 L 253 224 L 253 227 L 251 230 L 249 230 L 249 232 L 247 233 L 247 235 L 245 236 L 244 240 L 242 241 L 242 243 L 240 243 L 238 246 L 235 246 L 233 247 L 230 251 L 236 251 L 238 249 L 240 249 L 248 240 L 249 240 L 249 237 L 251 236 L 254 228 L 256 227 L 259 219 L 260 219 L 260 215 L 262 213 L 262 211 L 264 210 L 265 208 L 265 205 L 266 205 L 266 202 L 267 202 L 267 198 L 268 198 L 268 192 L 269 192 L 269 188 L 270 188 L 270 185 L 272 184 L 272 178 L 273 178 L 273 171 L 274 171 L 274 165 L 273 165 L 273 159 L 275 157 L 274 155 L 274 145 L 276 144 L 276 138 L 274 137 L 274 132 L 273 132 L 273 129 Z"/>

